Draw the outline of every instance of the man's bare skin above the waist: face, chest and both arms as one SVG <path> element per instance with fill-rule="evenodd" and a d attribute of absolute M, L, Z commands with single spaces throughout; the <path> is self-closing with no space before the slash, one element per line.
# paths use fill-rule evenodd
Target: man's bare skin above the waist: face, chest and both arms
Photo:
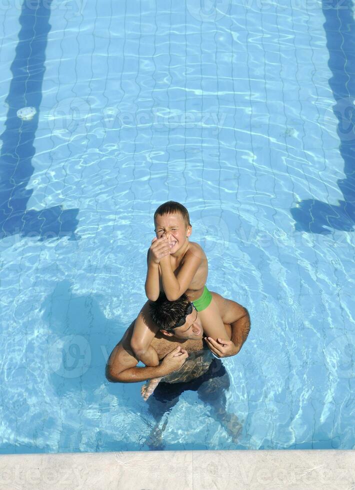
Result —
<path fill-rule="evenodd" d="M 166 371 L 162 374 L 164 379 L 169 382 L 178 382 L 188 380 L 200 372 L 204 372 L 212 360 L 212 350 L 219 357 L 235 355 L 245 341 L 250 320 L 247 310 L 236 301 L 225 299 L 219 294 L 211 291 L 220 311 L 224 323 L 227 339 L 215 341 L 204 338 L 201 321 L 195 309 L 185 318 L 182 326 L 173 328 L 171 331 L 161 330 L 155 334 L 151 345 L 156 350 L 161 365 L 175 365 L 175 369 L 161 369 L 156 367 L 156 375 L 159 371 Z M 156 331 L 156 325 L 150 317 L 150 308 L 148 301 L 144 304 L 139 312 L 138 318 L 153 330 Z M 154 372 L 153 367 L 133 367 L 138 360 L 130 348 L 130 339 L 133 331 L 134 322 L 123 334 L 122 339 L 112 350 L 106 366 L 106 376 L 112 382 L 136 382 L 137 378 L 143 380 L 155 378 L 150 375 L 144 377 L 144 369 L 147 372 Z M 183 355 L 181 355 L 183 352 Z M 187 354 L 188 353 L 188 354 Z M 166 359 L 163 359 L 166 356 Z M 182 368 L 181 368 L 181 367 Z"/>

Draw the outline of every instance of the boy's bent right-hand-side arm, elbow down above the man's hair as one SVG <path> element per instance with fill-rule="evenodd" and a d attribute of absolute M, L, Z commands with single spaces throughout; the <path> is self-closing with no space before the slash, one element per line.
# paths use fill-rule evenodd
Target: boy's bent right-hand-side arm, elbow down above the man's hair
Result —
<path fill-rule="evenodd" d="M 161 281 L 169 301 L 175 301 L 186 291 L 203 259 L 202 254 L 186 253 L 176 276 L 171 268 L 170 257 L 160 259 Z"/>

